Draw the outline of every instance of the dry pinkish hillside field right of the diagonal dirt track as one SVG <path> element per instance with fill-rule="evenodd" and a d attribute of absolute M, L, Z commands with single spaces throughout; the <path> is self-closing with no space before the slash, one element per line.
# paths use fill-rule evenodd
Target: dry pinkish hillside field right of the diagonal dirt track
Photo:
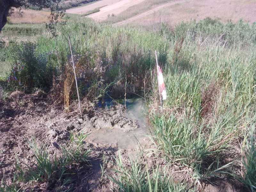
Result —
<path fill-rule="evenodd" d="M 142 13 L 143 17 L 134 17 L 127 22 L 135 25 L 152 25 L 159 22 L 177 24 L 181 21 L 202 20 L 206 17 L 220 19 L 223 22 L 240 19 L 253 23 L 256 21 L 256 1 L 254 0 L 193 0 L 181 1 L 162 7 L 156 12 Z M 144 15 L 143 15 L 144 14 Z M 130 22 L 130 23 L 131 23 Z M 123 22 L 120 22 L 123 24 Z"/>

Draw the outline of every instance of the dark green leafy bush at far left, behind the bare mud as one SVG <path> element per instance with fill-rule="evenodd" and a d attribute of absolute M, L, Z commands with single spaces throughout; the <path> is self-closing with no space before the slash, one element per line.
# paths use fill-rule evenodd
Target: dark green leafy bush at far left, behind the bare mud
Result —
<path fill-rule="evenodd" d="M 20 45 L 10 46 L 13 51 L 12 60 L 15 65 L 11 74 L 10 87 L 20 89 L 25 87 L 27 92 L 34 88 L 49 90 L 52 85 L 53 74 L 56 68 L 47 64 L 47 54 L 36 55 L 36 45 L 31 42 L 22 42 Z"/>

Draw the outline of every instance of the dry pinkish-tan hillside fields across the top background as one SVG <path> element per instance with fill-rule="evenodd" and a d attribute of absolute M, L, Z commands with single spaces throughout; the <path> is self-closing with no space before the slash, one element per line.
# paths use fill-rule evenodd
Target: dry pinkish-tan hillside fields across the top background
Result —
<path fill-rule="evenodd" d="M 85 3 L 83 7 L 79 7 L 76 10 L 68 9 L 72 6 L 80 5 Z M 95 12 L 100 12 L 100 8 L 108 5 L 110 11 L 103 11 L 102 14 L 93 17 L 96 20 L 104 20 L 105 23 L 117 23 L 119 21 L 126 20 L 142 12 L 147 12 L 151 8 L 155 8 L 158 5 L 165 4 L 168 2 L 174 2 L 172 0 L 150 0 L 143 1 L 136 5 L 129 5 L 129 2 L 115 1 L 115 0 L 104 0 L 104 1 L 64 1 L 61 3 L 62 8 L 68 9 L 67 12 L 90 15 Z M 115 7 L 116 4 L 120 3 L 125 11 L 120 14 L 116 13 L 111 9 L 111 6 Z M 86 5 L 86 6 L 85 6 Z M 210 0 L 209 2 L 195 0 L 195 1 L 179 1 L 175 4 L 166 5 L 165 7 L 154 11 L 151 14 L 146 14 L 132 22 L 129 25 L 143 26 L 146 28 L 152 28 L 154 25 L 165 22 L 170 25 L 179 24 L 181 21 L 190 20 L 202 20 L 206 17 L 212 19 L 220 19 L 223 22 L 232 20 L 233 22 L 239 21 L 243 18 L 245 21 L 253 23 L 255 22 L 256 6 L 255 2 L 251 0 L 227 0 L 218 1 Z M 60 8 L 61 8 L 60 6 Z M 126 9 L 128 7 L 128 9 Z M 112 10 L 112 11 L 111 11 Z M 115 10 L 115 9 L 114 9 Z M 32 9 L 23 10 L 23 17 L 20 17 L 18 12 L 14 12 L 10 17 L 12 23 L 46 23 L 48 22 L 49 12 L 36 11 Z M 70 17 L 75 17 L 76 14 L 68 14 Z M 105 20 L 105 18 L 107 18 Z"/>

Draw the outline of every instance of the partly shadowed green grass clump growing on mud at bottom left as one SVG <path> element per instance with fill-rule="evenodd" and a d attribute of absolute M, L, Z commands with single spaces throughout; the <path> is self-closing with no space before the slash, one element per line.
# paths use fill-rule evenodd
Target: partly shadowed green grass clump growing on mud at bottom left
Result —
<path fill-rule="evenodd" d="M 31 185 L 45 183 L 45 190 L 72 191 L 74 175 L 79 166 L 89 166 L 88 156 L 90 149 L 85 147 L 84 140 L 87 135 L 70 135 L 70 140 L 64 144 L 59 144 L 60 154 L 51 155 L 46 145 L 39 146 L 36 141 L 30 143 L 35 162 L 33 165 L 21 167 L 17 160 L 16 173 L 12 185 L 6 185 L 4 180 L 0 186 L 0 191 L 23 191 Z M 73 184 L 72 184 L 73 183 Z"/>

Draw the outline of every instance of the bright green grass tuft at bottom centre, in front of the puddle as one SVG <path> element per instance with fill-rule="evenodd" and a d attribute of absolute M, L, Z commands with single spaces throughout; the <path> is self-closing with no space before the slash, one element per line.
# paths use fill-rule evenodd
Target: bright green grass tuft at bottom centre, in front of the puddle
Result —
<path fill-rule="evenodd" d="M 166 167 L 161 167 L 164 172 L 160 172 L 159 165 L 154 168 L 148 168 L 145 164 L 143 155 L 138 153 L 135 157 L 125 159 L 130 166 L 124 166 L 124 158 L 119 151 L 115 158 L 114 171 L 115 176 L 109 175 L 109 179 L 116 185 L 112 188 L 113 191 L 141 191 L 141 192 L 192 192 L 187 190 L 187 185 L 184 183 L 174 183 L 173 178 L 166 170 Z"/>

